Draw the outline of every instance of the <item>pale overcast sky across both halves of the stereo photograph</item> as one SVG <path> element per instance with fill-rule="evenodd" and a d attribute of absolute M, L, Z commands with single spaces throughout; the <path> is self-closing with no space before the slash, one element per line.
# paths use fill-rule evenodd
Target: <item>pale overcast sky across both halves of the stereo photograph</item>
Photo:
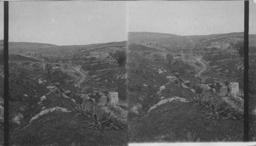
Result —
<path fill-rule="evenodd" d="M 0 2 L 0 39 L 4 38 L 3 4 Z M 249 34 L 256 34 L 253 1 L 249 10 Z M 126 32 L 132 31 L 176 35 L 243 32 L 244 1 L 9 2 L 9 41 L 82 45 L 124 41 Z"/>

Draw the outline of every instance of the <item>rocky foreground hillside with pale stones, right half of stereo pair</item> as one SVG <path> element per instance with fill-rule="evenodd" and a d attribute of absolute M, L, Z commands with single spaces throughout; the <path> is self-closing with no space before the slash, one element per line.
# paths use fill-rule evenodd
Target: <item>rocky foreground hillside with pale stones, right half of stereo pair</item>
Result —
<path fill-rule="evenodd" d="M 203 90 L 201 101 L 195 100 L 200 96 L 201 81 L 192 70 L 182 60 L 175 61 L 169 70 L 164 61 L 130 52 L 127 63 L 130 142 L 187 142 L 188 133 L 195 134 L 200 142 L 243 140 L 243 120 L 239 115 L 236 120 L 206 117 L 211 111 L 209 106 L 222 100 L 218 93 L 210 94 L 207 90 Z M 168 79 L 175 72 L 190 81 L 189 89 Z"/>

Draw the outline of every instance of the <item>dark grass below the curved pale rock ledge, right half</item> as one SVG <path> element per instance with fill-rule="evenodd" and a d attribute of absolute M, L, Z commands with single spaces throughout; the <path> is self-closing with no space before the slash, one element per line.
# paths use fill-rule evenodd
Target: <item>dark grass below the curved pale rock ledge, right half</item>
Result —
<path fill-rule="evenodd" d="M 191 102 L 164 104 L 130 123 L 130 141 L 176 142 L 186 138 L 189 131 L 196 132 L 201 141 L 211 141 L 216 137 L 226 138 L 226 141 L 243 140 L 243 121 L 207 119 L 204 111 Z"/>

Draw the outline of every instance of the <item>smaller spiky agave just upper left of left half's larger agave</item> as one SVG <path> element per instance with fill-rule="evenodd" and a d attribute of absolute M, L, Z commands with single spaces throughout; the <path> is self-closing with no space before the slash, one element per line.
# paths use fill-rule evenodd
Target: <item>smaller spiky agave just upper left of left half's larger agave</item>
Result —
<path fill-rule="evenodd" d="M 93 113 L 93 105 L 92 104 L 82 103 L 82 104 L 78 104 L 75 108 L 79 112 L 76 115 L 91 118 L 91 115 Z"/>

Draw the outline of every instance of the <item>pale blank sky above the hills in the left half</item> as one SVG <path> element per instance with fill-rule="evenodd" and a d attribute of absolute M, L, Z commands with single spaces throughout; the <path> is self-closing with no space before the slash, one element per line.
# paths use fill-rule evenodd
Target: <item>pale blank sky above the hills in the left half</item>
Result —
<path fill-rule="evenodd" d="M 55 45 L 125 41 L 125 2 L 9 2 L 9 40 Z"/>

